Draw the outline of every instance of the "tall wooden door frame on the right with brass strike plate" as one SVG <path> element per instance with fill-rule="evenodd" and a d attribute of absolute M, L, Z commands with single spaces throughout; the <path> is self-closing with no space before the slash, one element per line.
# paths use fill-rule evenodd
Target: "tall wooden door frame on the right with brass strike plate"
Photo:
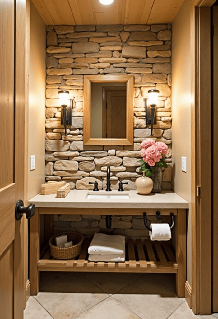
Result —
<path fill-rule="evenodd" d="M 211 313 L 212 297 L 210 7 L 214 2 L 191 2 L 192 310 L 203 315 Z"/>

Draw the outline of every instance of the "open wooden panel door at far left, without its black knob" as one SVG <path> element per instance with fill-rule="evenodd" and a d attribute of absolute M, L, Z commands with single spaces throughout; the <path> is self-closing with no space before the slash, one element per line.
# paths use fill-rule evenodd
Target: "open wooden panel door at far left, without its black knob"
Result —
<path fill-rule="evenodd" d="M 25 304 L 25 221 L 15 220 L 16 202 L 25 200 L 25 18 L 25 0 L 0 0 L 1 319 L 22 319 Z"/>

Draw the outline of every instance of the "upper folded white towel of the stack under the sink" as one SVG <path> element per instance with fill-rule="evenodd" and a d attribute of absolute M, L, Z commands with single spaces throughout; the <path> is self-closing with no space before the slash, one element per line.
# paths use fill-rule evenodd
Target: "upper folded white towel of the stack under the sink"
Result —
<path fill-rule="evenodd" d="M 95 255 L 123 255 L 125 237 L 95 233 L 89 245 L 88 253 Z"/>

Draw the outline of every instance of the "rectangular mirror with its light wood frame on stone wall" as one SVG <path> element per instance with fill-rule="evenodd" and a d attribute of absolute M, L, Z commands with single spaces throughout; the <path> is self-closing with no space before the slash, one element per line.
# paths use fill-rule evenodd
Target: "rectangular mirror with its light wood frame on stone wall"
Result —
<path fill-rule="evenodd" d="M 132 75 L 84 76 L 84 145 L 133 145 Z"/>

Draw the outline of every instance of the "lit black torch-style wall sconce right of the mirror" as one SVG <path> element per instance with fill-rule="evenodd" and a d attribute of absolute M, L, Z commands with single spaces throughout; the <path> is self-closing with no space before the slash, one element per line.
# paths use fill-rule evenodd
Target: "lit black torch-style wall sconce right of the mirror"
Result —
<path fill-rule="evenodd" d="M 158 90 L 149 90 L 148 99 L 145 99 L 145 123 L 151 124 L 151 135 L 153 134 L 153 125 L 157 124 Z"/>

